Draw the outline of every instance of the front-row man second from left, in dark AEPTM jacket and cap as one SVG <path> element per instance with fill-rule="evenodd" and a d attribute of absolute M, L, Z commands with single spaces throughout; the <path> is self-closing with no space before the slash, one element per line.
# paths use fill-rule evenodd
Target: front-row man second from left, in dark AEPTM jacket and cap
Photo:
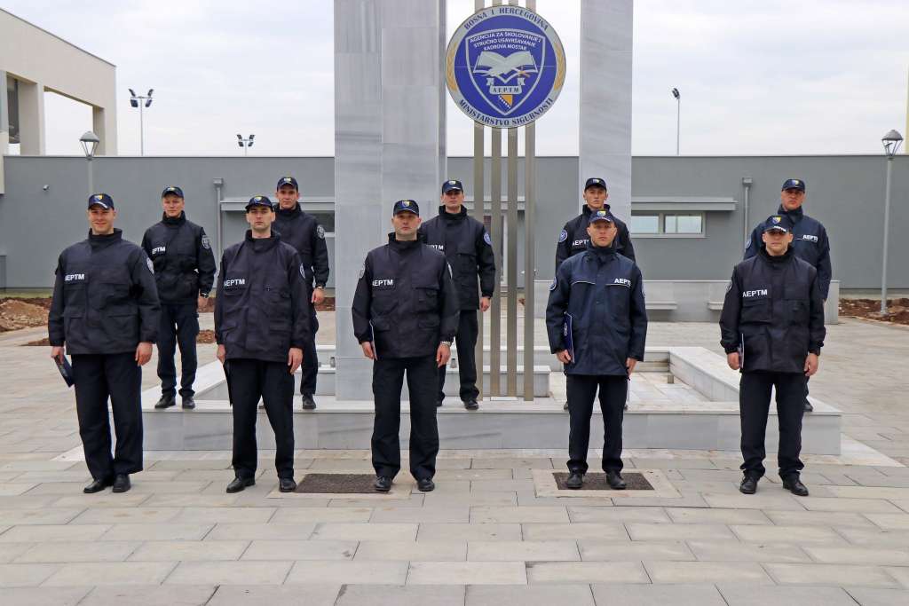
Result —
<path fill-rule="evenodd" d="M 272 231 L 275 210 L 264 195 L 246 204 L 250 229 L 227 248 L 215 299 L 217 358 L 228 366 L 234 412 L 235 479 L 227 492 L 255 484 L 256 404 L 265 402 L 275 431 L 278 489 L 293 492 L 294 373 L 310 338 L 309 288 L 294 247 Z"/>

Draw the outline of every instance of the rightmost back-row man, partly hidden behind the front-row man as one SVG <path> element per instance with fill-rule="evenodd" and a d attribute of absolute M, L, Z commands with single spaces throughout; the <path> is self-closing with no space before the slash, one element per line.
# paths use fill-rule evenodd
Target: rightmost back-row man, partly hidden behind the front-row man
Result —
<path fill-rule="evenodd" d="M 830 263 L 830 240 L 827 230 L 820 221 L 804 214 L 805 188 L 804 179 L 786 179 L 780 193 L 780 207 L 776 213 L 785 216 L 792 224 L 793 241 L 790 247 L 795 256 L 808 263 L 817 270 L 817 285 L 821 290 L 821 298 L 827 301 L 830 292 L 830 279 L 834 274 Z M 744 258 L 750 259 L 764 248 L 762 230 L 763 224 L 758 224 L 744 245 Z M 804 383 L 804 412 L 812 412 L 814 408 L 808 402 L 808 382 Z"/>

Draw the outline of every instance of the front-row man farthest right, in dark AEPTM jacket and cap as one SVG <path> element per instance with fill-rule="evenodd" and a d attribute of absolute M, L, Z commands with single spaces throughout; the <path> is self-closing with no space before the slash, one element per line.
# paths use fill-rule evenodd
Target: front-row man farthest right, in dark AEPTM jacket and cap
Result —
<path fill-rule="evenodd" d="M 764 432 L 775 388 L 780 477 L 786 490 L 807 496 L 800 481 L 802 403 L 804 383 L 817 372 L 824 346 L 821 279 L 791 246 L 794 225 L 789 216 L 768 217 L 761 232 L 764 246 L 735 266 L 720 314 L 720 344 L 729 367 L 742 373 L 744 478 L 739 490 L 754 494 L 764 476 Z"/>

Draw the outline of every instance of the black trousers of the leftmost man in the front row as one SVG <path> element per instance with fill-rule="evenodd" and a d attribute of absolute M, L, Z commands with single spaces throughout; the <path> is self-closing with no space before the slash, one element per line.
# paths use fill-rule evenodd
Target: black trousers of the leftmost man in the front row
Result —
<path fill-rule="evenodd" d="M 73 356 L 75 412 L 85 464 L 95 480 L 142 471 L 142 368 L 135 352 Z M 114 412 L 116 447 L 111 456 L 107 398 Z"/>

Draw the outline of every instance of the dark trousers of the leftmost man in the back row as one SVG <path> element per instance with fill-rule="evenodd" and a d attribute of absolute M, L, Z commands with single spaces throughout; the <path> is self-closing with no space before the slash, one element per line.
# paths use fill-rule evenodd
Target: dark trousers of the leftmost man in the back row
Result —
<path fill-rule="evenodd" d="M 163 303 L 161 323 L 158 328 L 158 378 L 161 379 L 161 393 L 176 394 L 176 368 L 174 353 L 180 346 L 180 396 L 191 398 L 195 395 L 195 337 L 199 334 L 199 313 L 194 303 Z"/>

